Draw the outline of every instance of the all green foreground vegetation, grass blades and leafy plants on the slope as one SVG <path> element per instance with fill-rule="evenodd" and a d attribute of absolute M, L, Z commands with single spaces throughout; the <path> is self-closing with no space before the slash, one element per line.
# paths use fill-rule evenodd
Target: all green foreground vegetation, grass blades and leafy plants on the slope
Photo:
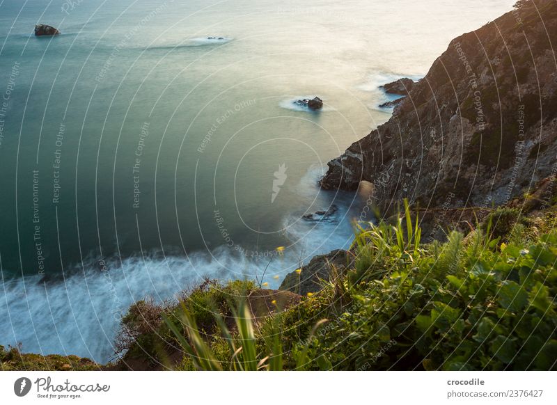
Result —
<path fill-rule="evenodd" d="M 517 213 L 421 245 L 405 206 L 359 228 L 354 269 L 298 305 L 255 322 L 241 298 L 253 284 L 213 285 L 157 331 L 184 354 L 179 370 L 556 370 L 556 216 Z"/>

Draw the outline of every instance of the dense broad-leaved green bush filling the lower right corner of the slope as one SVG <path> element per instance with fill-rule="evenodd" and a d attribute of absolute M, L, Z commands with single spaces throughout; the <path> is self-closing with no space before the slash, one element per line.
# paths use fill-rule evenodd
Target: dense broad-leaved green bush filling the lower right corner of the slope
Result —
<path fill-rule="evenodd" d="M 358 305 L 329 321 L 312 355 L 338 370 L 556 370 L 556 233 L 503 251 L 480 237 L 479 250 L 451 254 L 453 271 L 432 271 L 430 246 L 350 290 Z"/>

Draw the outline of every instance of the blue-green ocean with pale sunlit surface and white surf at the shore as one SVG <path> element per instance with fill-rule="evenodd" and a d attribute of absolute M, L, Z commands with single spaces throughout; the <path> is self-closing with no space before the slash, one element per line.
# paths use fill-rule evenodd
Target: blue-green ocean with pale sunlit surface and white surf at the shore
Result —
<path fill-rule="evenodd" d="M 350 246 L 327 161 L 512 3 L 0 0 L 0 344 L 106 362 L 136 300 Z"/>

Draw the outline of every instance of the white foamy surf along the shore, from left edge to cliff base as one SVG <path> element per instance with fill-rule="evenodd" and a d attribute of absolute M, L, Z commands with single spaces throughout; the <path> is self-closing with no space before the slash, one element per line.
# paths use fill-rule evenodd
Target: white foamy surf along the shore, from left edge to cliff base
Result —
<path fill-rule="evenodd" d="M 254 258 L 235 249 L 219 248 L 212 253 L 188 257 L 129 257 L 122 262 L 97 259 L 73 267 L 65 277 L 43 280 L 25 276 L 0 284 L 0 344 L 22 343 L 24 352 L 39 354 L 76 354 L 105 363 L 113 357 L 114 339 L 120 319 L 132 303 L 146 297 L 155 301 L 169 299 L 204 276 L 231 279 L 260 278 L 263 269 L 269 288 L 278 288 L 286 273 L 300 262 L 347 248 L 352 241 L 350 227 L 351 196 L 324 193 L 317 189 L 323 168 L 313 167 L 302 177 L 297 192 L 313 200 L 311 209 L 324 209 L 334 203 L 338 211 L 331 221 L 304 221 L 304 212 L 288 214 L 285 237 L 290 247 L 283 255 Z M 315 198 L 317 193 L 317 198 Z M 333 193 L 334 194 L 334 193 Z M 333 200 L 334 198 L 334 200 Z"/>

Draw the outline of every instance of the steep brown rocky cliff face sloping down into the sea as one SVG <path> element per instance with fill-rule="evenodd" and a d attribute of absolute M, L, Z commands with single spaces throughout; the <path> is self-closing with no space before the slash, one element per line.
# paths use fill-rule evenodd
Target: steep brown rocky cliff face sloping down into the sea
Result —
<path fill-rule="evenodd" d="M 557 2 L 455 38 L 393 117 L 329 162 L 324 189 L 373 184 L 389 209 L 491 206 L 557 173 Z"/>

